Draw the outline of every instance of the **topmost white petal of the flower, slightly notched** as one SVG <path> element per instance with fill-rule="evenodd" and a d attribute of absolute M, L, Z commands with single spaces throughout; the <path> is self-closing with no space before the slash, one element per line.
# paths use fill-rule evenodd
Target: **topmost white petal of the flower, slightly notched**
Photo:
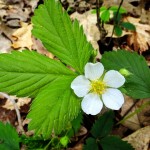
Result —
<path fill-rule="evenodd" d="M 102 63 L 87 63 L 85 65 L 85 77 L 90 80 L 96 80 L 101 77 L 104 72 L 104 66 Z"/>

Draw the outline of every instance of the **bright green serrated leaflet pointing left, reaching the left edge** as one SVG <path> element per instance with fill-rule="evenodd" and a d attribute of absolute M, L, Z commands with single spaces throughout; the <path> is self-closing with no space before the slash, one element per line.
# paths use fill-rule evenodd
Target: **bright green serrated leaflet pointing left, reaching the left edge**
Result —
<path fill-rule="evenodd" d="M 34 97 L 53 80 L 74 73 L 62 63 L 34 51 L 0 54 L 0 91 Z"/>

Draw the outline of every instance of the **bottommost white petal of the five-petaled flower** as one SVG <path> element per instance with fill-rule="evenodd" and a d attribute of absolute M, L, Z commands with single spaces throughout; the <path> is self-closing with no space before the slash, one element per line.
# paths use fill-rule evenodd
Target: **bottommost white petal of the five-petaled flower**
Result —
<path fill-rule="evenodd" d="M 103 103 L 98 95 L 89 93 L 83 98 L 81 107 L 86 114 L 97 115 L 101 111 Z"/>

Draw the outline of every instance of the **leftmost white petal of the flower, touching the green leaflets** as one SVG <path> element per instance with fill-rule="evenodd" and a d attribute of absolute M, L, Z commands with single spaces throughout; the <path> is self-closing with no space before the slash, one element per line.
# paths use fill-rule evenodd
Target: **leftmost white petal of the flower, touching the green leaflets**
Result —
<path fill-rule="evenodd" d="M 77 76 L 71 83 L 71 88 L 78 97 L 85 96 L 91 89 L 91 84 L 85 76 Z"/>

